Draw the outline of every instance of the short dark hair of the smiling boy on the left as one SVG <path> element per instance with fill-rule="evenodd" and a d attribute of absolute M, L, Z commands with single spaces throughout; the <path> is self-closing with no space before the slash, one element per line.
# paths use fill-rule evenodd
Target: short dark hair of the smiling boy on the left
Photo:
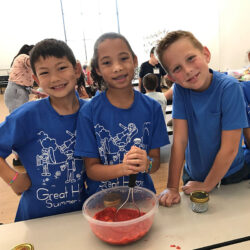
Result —
<path fill-rule="evenodd" d="M 65 42 L 56 39 L 44 39 L 38 42 L 30 52 L 30 65 L 35 75 L 35 63 L 40 57 L 46 59 L 50 56 L 57 58 L 62 58 L 65 56 L 71 62 L 73 67 L 76 65 L 74 53 Z"/>

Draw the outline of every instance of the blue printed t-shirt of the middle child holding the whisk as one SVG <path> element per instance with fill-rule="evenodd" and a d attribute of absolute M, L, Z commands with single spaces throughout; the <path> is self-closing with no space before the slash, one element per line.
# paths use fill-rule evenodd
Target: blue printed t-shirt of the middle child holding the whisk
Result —
<path fill-rule="evenodd" d="M 160 104 L 138 91 L 134 91 L 134 102 L 128 109 L 113 106 L 103 92 L 81 108 L 78 119 L 75 154 L 100 158 L 105 165 L 122 163 L 133 145 L 148 153 L 169 144 Z M 126 185 L 127 176 L 102 182 L 87 179 L 90 195 L 102 189 Z M 147 173 L 137 175 L 136 185 L 155 192 Z"/>

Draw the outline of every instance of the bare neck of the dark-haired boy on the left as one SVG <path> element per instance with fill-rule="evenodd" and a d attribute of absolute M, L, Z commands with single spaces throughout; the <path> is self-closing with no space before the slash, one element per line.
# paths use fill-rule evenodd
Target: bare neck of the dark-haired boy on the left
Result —
<path fill-rule="evenodd" d="M 65 98 L 50 98 L 50 104 L 59 115 L 71 115 L 78 111 L 80 104 L 76 95 Z"/>

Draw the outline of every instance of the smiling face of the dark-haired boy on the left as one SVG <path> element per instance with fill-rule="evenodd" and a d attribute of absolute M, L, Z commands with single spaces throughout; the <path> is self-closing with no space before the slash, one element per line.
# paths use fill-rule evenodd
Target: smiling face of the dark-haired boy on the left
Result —
<path fill-rule="evenodd" d="M 75 95 L 75 86 L 80 77 L 79 64 L 75 67 L 67 57 L 40 57 L 35 63 L 34 80 L 51 99 Z"/>

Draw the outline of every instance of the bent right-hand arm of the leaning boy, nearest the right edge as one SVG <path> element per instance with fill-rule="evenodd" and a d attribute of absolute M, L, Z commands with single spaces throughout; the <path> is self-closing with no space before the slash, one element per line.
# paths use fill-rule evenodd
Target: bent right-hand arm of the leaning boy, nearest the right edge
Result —
<path fill-rule="evenodd" d="M 221 147 L 215 157 L 211 170 L 204 182 L 190 181 L 182 190 L 190 194 L 195 190 L 210 192 L 225 176 L 239 149 L 241 129 L 223 130 Z"/>

